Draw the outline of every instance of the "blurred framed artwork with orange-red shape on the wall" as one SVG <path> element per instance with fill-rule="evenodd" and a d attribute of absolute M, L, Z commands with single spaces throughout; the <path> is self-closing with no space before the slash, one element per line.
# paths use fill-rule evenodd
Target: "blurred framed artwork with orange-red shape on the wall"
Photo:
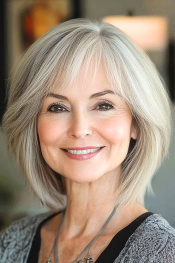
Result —
<path fill-rule="evenodd" d="M 50 28 L 73 17 L 71 0 L 33 1 L 21 12 L 20 31 L 23 48 L 26 49 Z"/>

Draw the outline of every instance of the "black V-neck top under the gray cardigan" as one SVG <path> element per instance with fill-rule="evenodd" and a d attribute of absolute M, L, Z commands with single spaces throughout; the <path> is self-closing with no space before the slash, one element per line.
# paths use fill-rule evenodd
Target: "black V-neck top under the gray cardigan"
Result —
<path fill-rule="evenodd" d="M 42 225 L 45 223 L 45 221 L 47 221 L 48 219 L 50 219 L 56 214 L 50 215 L 49 217 L 47 217 L 46 219 L 42 220 L 39 223 L 36 233 L 34 235 L 33 241 L 32 241 L 31 249 L 30 249 L 26 263 L 37 263 L 38 253 L 40 249 L 40 229 Z M 130 224 L 128 224 L 126 227 L 124 227 L 118 233 L 116 233 L 114 237 L 111 239 L 110 243 L 107 245 L 107 247 L 102 251 L 99 257 L 96 259 L 95 263 L 104 263 L 104 262 L 113 263 L 115 258 L 119 255 L 119 253 L 123 249 L 130 235 L 151 214 L 153 213 L 145 212 L 141 214 L 135 220 L 133 220 Z"/>

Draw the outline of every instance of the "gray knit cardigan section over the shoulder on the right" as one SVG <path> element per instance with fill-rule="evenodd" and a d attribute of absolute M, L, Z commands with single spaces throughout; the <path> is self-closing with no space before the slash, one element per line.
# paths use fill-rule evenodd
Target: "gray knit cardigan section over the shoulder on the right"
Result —
<path fill-rule="evenodd" d="M 160 214 L 148 216 L 129 237 L 119 258 L 115 262 L 174 263 L 175 229 Z"/>

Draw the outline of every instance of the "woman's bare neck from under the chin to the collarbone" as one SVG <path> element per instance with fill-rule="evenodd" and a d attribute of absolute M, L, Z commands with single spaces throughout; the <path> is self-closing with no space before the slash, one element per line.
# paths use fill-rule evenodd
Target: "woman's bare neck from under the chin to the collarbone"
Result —
<path fill-rule="evenodd" d="M 87 236 L 100 229 L 114 208 L 117 184 L 116 174 L 81 184 L 65 178 L 67 205 L 62 235 Z"/>

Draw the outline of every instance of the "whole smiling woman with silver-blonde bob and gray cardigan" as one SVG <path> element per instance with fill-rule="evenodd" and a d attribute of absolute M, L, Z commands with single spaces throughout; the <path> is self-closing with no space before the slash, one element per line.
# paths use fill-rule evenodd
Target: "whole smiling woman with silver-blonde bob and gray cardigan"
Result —
<path fill-rule="evenodd" d="M 169 104 L 148 56 L 109 24 L 73 19 L 37 40 L 13 71 L 3 130 L 50 212 L 1 233 L 0 262 L 174 262 L 175 229 L 144 207 Z"/>

